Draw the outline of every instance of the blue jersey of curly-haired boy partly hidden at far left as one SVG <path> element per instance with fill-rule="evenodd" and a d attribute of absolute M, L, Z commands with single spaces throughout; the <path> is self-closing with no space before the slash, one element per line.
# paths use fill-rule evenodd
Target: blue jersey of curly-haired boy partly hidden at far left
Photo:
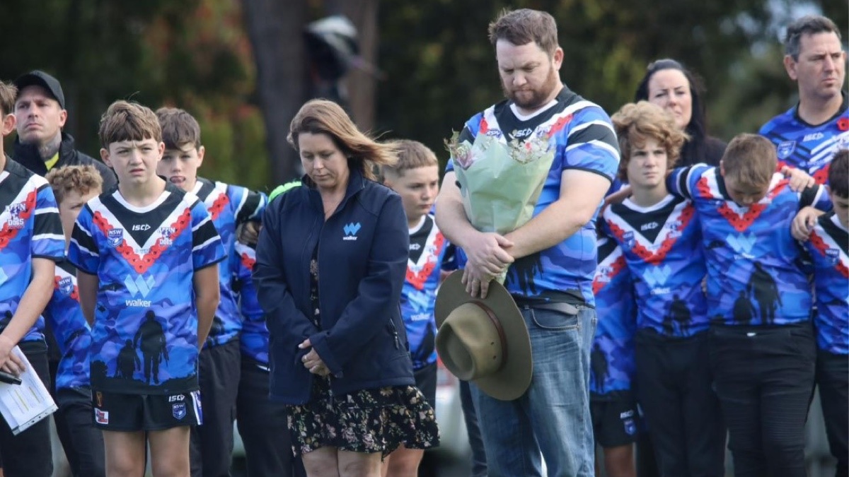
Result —
<path fill-rule="evenodd" d="M 88 350 L 92 345 L 92 329 L 82 315 L 80 295 L 76 287 L 76 268 L 68 261 L 56 266 L 53 295 L 44 318 L 59 346 L 59 368 L 56 370 L 56 389 L 87 387 Z"/>

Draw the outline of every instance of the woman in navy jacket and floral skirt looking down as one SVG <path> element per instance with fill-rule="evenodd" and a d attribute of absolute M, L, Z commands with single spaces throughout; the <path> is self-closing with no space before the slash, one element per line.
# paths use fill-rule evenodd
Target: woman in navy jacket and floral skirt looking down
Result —
<path fill-rule="evenodd" d="M 374 165 L 396 157 L 325 100 L 301 108 L 289 141 L 306 187 L 268 205 L 254 271 L 271 397 L 287 405 L 293 451 L 311 477 L 379 477 L 397 446 L 438 439 L 413 386 L 399 308 L 407 219 L 401 198 L 374 182 Z"/>

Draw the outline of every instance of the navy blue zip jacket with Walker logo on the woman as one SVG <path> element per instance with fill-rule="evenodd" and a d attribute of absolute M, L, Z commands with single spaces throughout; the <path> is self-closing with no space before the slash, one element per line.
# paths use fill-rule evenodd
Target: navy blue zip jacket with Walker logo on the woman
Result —
<path fill-rule="evenodd" d="M 298 349 L 307 338 L 333 375 L 334 394 L 414 383 L 399 306 L 409 254 L 401 198 L 351 170 L 345 199 L 323 219 L 318 190 L 293 188 L 267 206 L 256 246 L 270 394 L 287 404 L 310 398 L 315 375 L 301 362 L 309 350 Z M 317 244 L 320 329 L 308 318 Z"/>

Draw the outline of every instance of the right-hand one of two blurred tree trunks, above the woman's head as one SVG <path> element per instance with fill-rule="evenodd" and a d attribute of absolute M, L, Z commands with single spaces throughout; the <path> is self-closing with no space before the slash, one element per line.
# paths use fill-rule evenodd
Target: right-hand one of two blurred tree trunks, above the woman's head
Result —
<path fill-rule="evenodd" d="M 329 14 L 343 14 L 357 27 L 360 56 L 367 65 L 377 64 L 379 0 L 328 0 Z M 377 101 L 377 78 L 374 72 L 351 70 L 346 76 L 348 104 L 351 116 L 362 131 L 374 128 L 374 110 Z"/>

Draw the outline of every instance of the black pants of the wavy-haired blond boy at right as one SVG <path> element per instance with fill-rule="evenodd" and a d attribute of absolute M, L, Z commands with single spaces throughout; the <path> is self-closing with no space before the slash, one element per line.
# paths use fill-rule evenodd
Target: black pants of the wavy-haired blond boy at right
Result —
<path fill-rule="evenodd" d="M 672 339 L 643 329 L 634 347 L 635 388 L 661 475 L 722 477 L 725 429 L 707 333 Z"/>

